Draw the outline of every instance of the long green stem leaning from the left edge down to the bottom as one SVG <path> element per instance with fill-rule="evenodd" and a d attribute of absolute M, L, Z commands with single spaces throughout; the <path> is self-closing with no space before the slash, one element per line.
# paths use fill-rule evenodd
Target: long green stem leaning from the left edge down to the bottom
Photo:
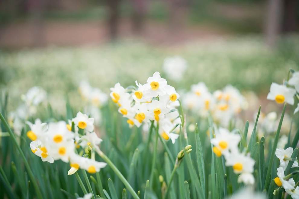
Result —
<path fill-rule="evenodd" d="M 28 164 L 28 162 L 27 162 L 27 159 L 26 159 L 26 157 L 25 157 L 25 155 L 24 155 L 24 153 L 23 153 L 21 147 L 18 145 L 18 142 L 17 142 L 16 137 L 14 136 L 13 132 L 12 132 L 11 129 L 9 128 L 9 125 L 8 125 L 8 123 L 6 122 L 6 120 L 4 119 L 4 117 L 3 117 L 3 115 L 2 115 L 1 112 L 0 112 L 0 119 L 1 119 L 1 121 L 2 121 L 2 123 L 3 123 L 3 125 L 4 125 L 4 127 L 5 127 L 6 130 L 8 131 L 9 136 L 11 137 L 13 143 L 14 143 L 15 146 L 17 147 L 17 149 L 18 149 L 18 151 L 19 151 L 21 157 L 23 158 L 24 165 L 25 165 L 25 167 L 26 167 L 26 169 L 27 169 L 27 172 L 28 172 L 29 177 L 31 178 L 31 182 L 32 182 L 32 184 L 33 184 L 33 186 L 34 186 L 35 192 L 36 192 L 36 194 L 37 194 L 37 198 L 42 199 L 43 196 L 42 196 L 42 194 L 41 194 L 41 192 L 40 192 L 40 188 L 39 188 L 38 185 L 37 185 L 37 181 L 36 181 L 36 179 L 34 178 L 34 175 L 33 175 L 32 171 L 31 171 L 31 168 L 30 168 L 30 166 L 29 166 L 29 164 Z"/>

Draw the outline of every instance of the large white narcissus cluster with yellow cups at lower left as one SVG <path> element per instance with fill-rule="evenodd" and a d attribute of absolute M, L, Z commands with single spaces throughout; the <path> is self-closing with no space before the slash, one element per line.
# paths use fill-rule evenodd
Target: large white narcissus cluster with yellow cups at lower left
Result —
<path fill-rule="evenodd" d="M 54 160 L 69 162 L 72 167 L 69 174 L 75 173 L 79 168 L 89 173 L 98 172 L 106 166 L 106 163 L 97 162 L 76 153 L 76 149 L 80 146 L 96 148 L 101 143 L 102 140 L 93 131 L 93 123 L 93 118 L 88 118 L 81 112 L 78 112 L 68 124 L 65 121 L 47 124 L 42 123 L 40 119 L 36 119 L 34 124 L 27 122 L 31 129 L 27 132 L 27 137 L 32 140 L 31 150 L 44 162 L 53 163 Z"/>

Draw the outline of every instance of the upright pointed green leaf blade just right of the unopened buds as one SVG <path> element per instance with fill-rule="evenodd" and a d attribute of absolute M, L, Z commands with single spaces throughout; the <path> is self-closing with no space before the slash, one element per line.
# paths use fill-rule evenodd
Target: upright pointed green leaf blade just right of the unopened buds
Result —
<path fill-rule="evenodd" d="M 201 141 L 198 133 L 197 123 L 195 124 L 195 143 L 196 143 L 196 159 L 199 173 L 199 179 L 202 191 L 205 192 L 205 175 L 204 175 L 204 154 L 201 146 Z"/>

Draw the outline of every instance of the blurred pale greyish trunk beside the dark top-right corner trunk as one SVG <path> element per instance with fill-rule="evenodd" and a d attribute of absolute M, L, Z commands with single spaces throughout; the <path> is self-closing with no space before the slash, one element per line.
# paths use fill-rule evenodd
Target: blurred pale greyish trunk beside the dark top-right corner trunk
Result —
<path fill-rule="evenodd" d="M 274 46 L 281 31 L 282 0 L 268 0 L 266 18 L 266 43 Z"/>

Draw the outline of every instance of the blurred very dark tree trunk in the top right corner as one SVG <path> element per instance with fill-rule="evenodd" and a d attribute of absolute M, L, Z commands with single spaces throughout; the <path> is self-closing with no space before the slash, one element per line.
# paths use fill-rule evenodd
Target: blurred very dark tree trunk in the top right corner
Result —
<path fill-rule="evenodd" d="M 282 31 L 284 33 L 294 32 L 297 29 L 298 0 L 284 0 L 284 17 Z"/>

